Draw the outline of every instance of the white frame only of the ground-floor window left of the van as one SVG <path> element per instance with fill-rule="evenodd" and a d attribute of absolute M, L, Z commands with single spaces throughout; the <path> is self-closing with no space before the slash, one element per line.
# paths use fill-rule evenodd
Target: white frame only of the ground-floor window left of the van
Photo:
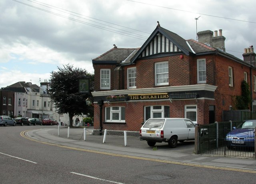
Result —
<path fill-rule="evenodd" d="M 109 113 L 107 114 L 107 109 L 109 108 Z M 116 109 L 118 108 L 118 109 Z M 124 112 L 123 112 L 124 111 Z M 124 118 L 122 119 L 122 112 L 124 113 Z M 118 114 L 118 120 L 114 120 L 114 114 Z M 107 115 L 109 115 L 109 119 L 107 119 Z M 122 123 L 125 122 L 125 107 L 124 106 L 110 106 L 105 107 L 105 122 L 116 122 Z"/>

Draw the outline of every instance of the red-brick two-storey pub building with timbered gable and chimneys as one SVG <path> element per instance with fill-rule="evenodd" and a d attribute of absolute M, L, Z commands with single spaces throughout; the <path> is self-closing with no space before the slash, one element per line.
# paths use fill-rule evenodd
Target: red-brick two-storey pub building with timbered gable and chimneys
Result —
<path fill-rule="evenodd" d="M 140 48 L 114 48 L 92 60 L 95 74 L 94 132 L 140 130 L 148 118 L 189 118 L 198 124 L 222 121 L 235 108 L 241 83 L 256 105 L 253 47 L 244 60 L 225 51 L 222 30 L 185 40 L 158 23 Z"/>

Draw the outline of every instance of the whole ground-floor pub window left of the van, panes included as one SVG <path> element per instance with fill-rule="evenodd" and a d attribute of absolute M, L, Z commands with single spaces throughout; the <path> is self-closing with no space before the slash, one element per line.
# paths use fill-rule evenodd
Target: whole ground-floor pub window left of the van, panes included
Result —
<path fill-rule="evenodd" d="M 125 107 L 106 107 L 105 122 L 125 122 Z"/>

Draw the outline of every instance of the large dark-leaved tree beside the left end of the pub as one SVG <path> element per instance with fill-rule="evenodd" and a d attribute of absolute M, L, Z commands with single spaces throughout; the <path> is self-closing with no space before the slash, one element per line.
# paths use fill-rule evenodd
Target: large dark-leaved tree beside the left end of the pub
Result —
<path fill-rule="evenodd" d="M 84 77 L 90 78 L 89 94 L 79 92 L 79 80 Z M 74 116 L 85 114 L 93 117 L 93 107 L 86 105 L 86 99 L 89 97 L 93 102 L 91 92 L 94 90 L 94 74 L 67 64 L 63 65 L 63 68 L 58 66 L 58 71 L 51 72 L 49 83 L 48 93 L 57 112 L 59 114 L 68 113 L 71 127 Z"/>

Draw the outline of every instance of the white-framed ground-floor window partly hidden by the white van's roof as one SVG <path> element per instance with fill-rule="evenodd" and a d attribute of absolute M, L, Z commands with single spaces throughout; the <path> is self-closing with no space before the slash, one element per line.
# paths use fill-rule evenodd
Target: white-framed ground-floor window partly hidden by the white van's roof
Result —
<path fill-rule="evenodd" d="M 145 106 L 144 120 L 149 118 L 170 118 L 170 106 Z"/>

